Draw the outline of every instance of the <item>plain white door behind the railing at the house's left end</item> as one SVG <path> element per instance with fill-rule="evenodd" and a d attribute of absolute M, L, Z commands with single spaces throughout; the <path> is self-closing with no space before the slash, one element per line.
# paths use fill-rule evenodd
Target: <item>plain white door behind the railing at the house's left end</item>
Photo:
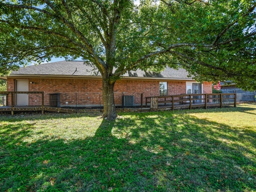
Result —
<path fill-rule="evenodd" d="M 28 80 L 16 80 L 16 91 L 28 91 Z M 16 105 L 28 106 L 28 94 L 16 94 Z"/>

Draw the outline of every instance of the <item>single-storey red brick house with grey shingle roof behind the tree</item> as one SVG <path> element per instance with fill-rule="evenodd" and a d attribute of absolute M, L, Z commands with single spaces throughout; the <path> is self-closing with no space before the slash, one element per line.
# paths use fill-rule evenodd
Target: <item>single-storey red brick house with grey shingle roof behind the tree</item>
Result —
<path fill-rule="evenodd" d="M 102 77 L 97 69 L 83 61 L 62 61 L 27 66 L 7 76 L 7 91 L 43 91 L 45 106 L 100 106 Z M 212 93 L 212 83 L 197 83 L 188 78 L 184 69 L 166 67 L 160 73 L 130 71 L 114 86 L 116 106 L 122 106 L 122 96 L 132 96 L 133 105 L 143 103 L 145 97 L 193 93 Z M 16 105 L 34 105 L 40 96 L 16 98 Z M 54 97 L 57 97 L 54 99 Z"/>

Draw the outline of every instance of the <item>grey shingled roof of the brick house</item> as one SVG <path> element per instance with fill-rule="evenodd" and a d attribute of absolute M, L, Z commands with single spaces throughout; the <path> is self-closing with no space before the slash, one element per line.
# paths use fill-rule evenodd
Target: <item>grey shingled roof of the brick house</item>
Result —
<path fill-rule="evenodd" d="M 84 64 L 84 61 L 60 61 L 21 67 L 18 71 L 12 71 L 9 75 L 23 77 L 72 77 L 72 78 L 101 78 L 98 69 Z M 163 80 L 192 80 L 188 78 L 188 72 L 182 68 L 175 70 L 166 67 L 160 73 L 145 72 L 142 70 L 130 71 L 123 78 L 131 79 L 163 79 Z"/>

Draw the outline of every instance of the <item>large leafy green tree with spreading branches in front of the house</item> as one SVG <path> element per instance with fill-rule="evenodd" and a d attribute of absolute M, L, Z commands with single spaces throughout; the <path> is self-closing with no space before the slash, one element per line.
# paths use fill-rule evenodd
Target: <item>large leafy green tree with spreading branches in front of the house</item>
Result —
<path fill-rule="evenodd" d="M 139 2 L 139 3 L 138 3 Z M 256 89 L 255 0 L 0 0 L 0 74 L 52 57 L 98 68 L 104 116 L 129 70 L 185 68 Z"/>

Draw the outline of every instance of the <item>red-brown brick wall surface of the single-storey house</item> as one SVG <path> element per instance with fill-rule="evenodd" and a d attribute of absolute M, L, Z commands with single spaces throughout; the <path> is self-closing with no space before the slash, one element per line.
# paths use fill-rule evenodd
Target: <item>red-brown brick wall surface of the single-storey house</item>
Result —
<path fill-rule="evenodd" d="M 19 78 L 20 79 L 20 78 Z M 15 90 L 14 78 L 8 78 L 8 91 Z M 44 91 L 44 105 L 50 105 L 51 94 L 60 93 L 59 104 L 61 106 L 94 106 L 103 104 L 102 100 L 102 80 L 100 79 L 50 79 L 50 78 L 29 78 L 29 91 Z M 122 104 L 122 96 L 133 95 L 134 104 L 140 105 L 141 94 L 143 103 L 145 97 L 159 96 L 159 80 L 118 80 L 114 86 L 115 104 Z M 168 95 L 186 94 L 185 81 L 167 81 Z M 212 84 L 204 82 L 203 93 L 212 93 Z M 77 101 L 77 103 L 76 103 Z M 41 97 L 33 95 L 29 99 L 29 104 L 41 103 Z"/>

